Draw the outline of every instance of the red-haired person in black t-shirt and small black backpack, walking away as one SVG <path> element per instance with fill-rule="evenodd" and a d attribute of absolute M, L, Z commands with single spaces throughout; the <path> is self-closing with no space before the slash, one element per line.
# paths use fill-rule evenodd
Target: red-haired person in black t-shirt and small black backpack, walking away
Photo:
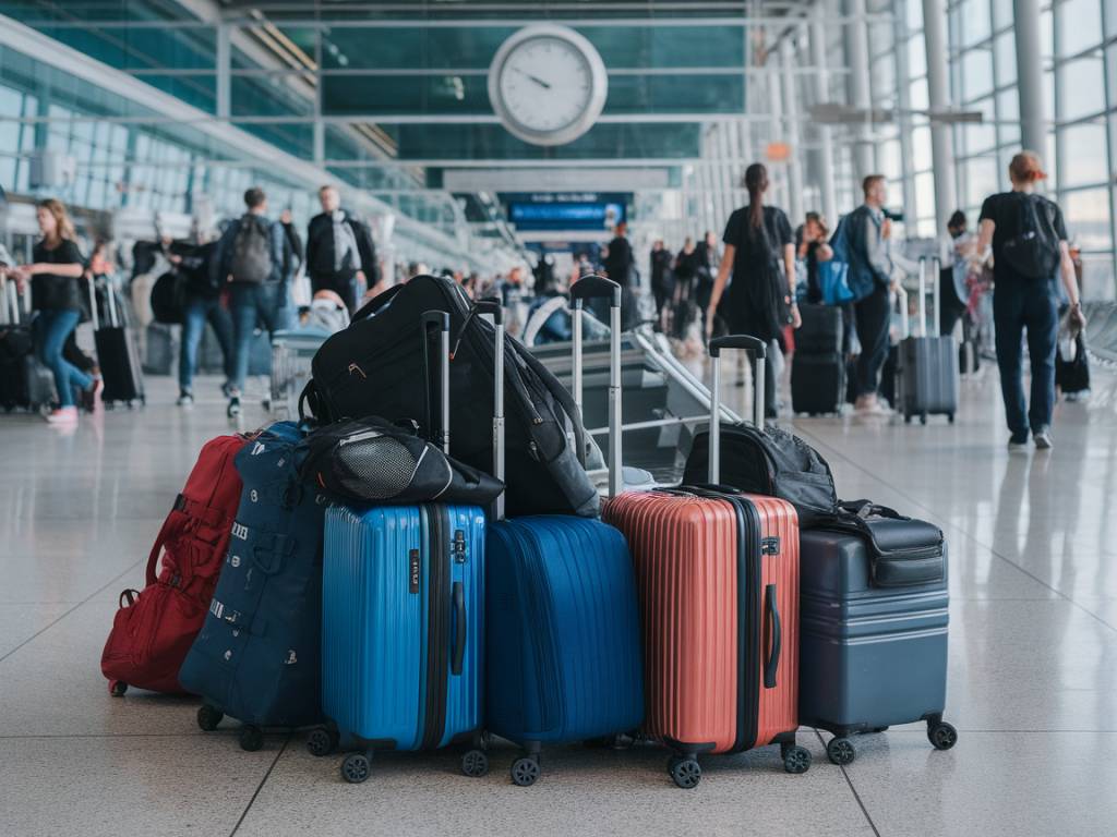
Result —
<path fill-rule="evenodd" d="M 996 365 L 1008 419 L 1010 450 L 1024 450 L 1028 434 L 1039 450 L 1052 446 L 1054 408 L 1054 353 L 1059 333 L 1057 272 L 1070 301 L 1072 327 L 1086 326 L 1067 244 L 1062 211 L 1035 184 L 1047 177 L 1037 154 L 1023 151 L 1009 164 L 1012 191 L 990 195 L 981 210 L 976 253 L 981 261 L 993 248 L 993 323 L 996 328 Z M 1031 405 L 1024 402 L 1021 339 L 1028 331 L 1032 368 Z"/>

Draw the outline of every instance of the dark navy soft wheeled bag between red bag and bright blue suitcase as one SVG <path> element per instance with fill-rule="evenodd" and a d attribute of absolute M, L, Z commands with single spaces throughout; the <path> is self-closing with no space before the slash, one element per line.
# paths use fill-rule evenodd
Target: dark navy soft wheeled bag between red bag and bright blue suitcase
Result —
<path fill-rule="evenodd" d="M 201 633 L 179 680 L 202 695 L 198 725 L 223 715 L 258 750 L 262 727 L 318 723 L 322 533 L 325 500 L 298 481 L 293 422 L 261 432 L 237 454 L 245 483 L 229 552 Z"/>

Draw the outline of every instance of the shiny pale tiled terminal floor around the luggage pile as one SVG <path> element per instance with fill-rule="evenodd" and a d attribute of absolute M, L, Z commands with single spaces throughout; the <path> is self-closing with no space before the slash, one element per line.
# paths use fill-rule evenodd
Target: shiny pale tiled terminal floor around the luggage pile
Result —
<path fill-rule="evenodd" d="M 808 731 L 806 775 L 762 750 L 707 759 L 694 791 L 653 748 L 548 753 L 531 789 L 508 782 L 507 748 L 481 780 L 448 753 L 385 754 L 349 786 L 298 735 L 245 753 L 199 732 L 192 701 L 109 698 L 98 661 L 116 596 L 141 584 L 198 448 L 228 426 L 222 406 L 179 410 L 152 381 L 146 410 L 74 433 L 0 416 L 0 835 L 1115 834 L 1117 382 L 1098 377 L 1089 404 L 1059 406 L 1050 454 L 1010 456 L 991 374 L 963 384 L 954 426 L 798 422 L 843 497 L 945 529 L 960 742 L 936 752 L 920 727 L 897 728 L 841 769 Z"/>

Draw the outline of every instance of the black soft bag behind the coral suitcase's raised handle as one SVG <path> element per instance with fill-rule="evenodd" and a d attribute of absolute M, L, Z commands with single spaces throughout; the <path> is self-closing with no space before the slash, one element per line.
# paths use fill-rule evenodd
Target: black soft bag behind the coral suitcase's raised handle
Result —
<path fill-rule="evenodd" d="M 706 482 L 709 431 L 695 435 L 682 472 L 682 484 Z M 830 465 L 799 436 L 768 425 L 722 424 L 720 483 L 737 491 L 779 497 L 799 512 L 799 525 L 808 528 L 829 519 L 838 508 Z"/>

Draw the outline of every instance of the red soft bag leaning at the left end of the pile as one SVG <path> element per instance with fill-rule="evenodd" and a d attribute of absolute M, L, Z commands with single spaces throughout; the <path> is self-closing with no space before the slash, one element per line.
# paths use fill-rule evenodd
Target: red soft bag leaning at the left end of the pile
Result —
<path fill-rule="evenodd" d="M 218 436 L 206 443 L 155 538 L 146 587 L 121 594 L 101 656 L 111 694 L 123 695 L 130 685 L 153 692 L 184 691 L 179 668 L 206 620 L 229 547 L 241 489 L 233 458 L 245 441 Z M 156 576 L 161 554 L 162 569 Z"/>

